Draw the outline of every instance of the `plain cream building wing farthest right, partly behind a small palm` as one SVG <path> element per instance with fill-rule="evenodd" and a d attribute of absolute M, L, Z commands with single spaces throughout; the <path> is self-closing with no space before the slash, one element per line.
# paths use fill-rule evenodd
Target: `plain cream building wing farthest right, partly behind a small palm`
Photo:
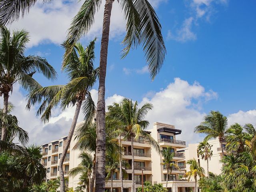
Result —
<path fill-rule="evenodd" d="M 220 160 L 222 159 L 220 141 L 218 139 L 215 139 L 215 140 L 209 140 L 208 143 L 212 145 L 212 157 L 209 160 L 209 172 L 219 175 L 221 174 L 221 168 L 222 168 L 222 163 L 220 162 Z M 197 151 L 198 145 L 199 143 L 188 144 L 188 147 L 182 149 L 182 152 L 184 153 L 184 157 L 185 157 L 184 161 L 195 158 L 196 160 L 198 160 L 198 163 L 200 164 L 200 166 L 204 168 L 205 174 L 207 176 L 207 162 L 203 160 L 201 156 L 198 155 L 198 151 Z M 224 155 L 226 154 L 225 146 L 226 146 L 226 142 L 223 142 Z"/>

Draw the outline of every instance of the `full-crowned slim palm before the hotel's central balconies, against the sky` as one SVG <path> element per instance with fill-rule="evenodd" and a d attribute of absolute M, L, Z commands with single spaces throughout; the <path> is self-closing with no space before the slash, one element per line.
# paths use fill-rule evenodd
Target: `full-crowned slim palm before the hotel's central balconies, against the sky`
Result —
<path fill-rule="evenodd" d="M 138 102 L 132 102 L 128 98 L 124 98 L 120 104 L 114 103 L 108 106 L 108 119 L 118 122 L 119 129 L 113 132 L 113 135 L 124 135 L 124 139 L 131 140 L 132 152 L 132 192 L 135 190 L 134 186 L 134 151 L 133 142 L 143 137 L 150 143 L 159 153 L 160 147 L 158 142 L 154 140 L 144 129 L 149 125 L 147 120 L 144 120 L 149 110 L 153 108 L 152 104 L 146 103 L 141 108 L 138 108 Z"/>

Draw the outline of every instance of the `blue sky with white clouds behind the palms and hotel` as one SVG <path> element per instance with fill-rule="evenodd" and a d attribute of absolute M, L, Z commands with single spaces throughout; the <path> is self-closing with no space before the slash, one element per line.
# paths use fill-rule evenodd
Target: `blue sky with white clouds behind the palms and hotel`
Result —
<path fill-rule="evenodd" d="M 45 57 L 58 72 L 58 80 L 50 82 L 41 75 L 34 78 L 48 86 L 65 84 L 67 78 L 60 71 L 63 48 L 71 19 L 83 1 L 54 0 L 41 2 L 31 8 L 23 19 L 8 26 L 25 28 L 30 32 L 26 55 Z M 104 3 L 104 1 L 102 1 Z M 248 0 L 150 0 L 155 8 L 164 37 L 167 55 L 160 73 L 151 81 L 144 53 L 139 47 L 126 58 L 120 58 L 125 20 L 114 1 L 108 66 L 106 75 L 106 105 L 132 98 L 140 104 L 154 105 L 146 117 L 153 122 L 173 124 L 182 130 L 179 140 L 196 143 L 204 135 L 194 134 L 194 127 L 202 122 L 210 110 L 219 110 L 228 117 L 229 124 L 256 125 L 256 3 Z M 84 46 L 94 37 L 95 66 L 99 65 L 103 8 L 95 16 L 92 29 L 80 41 Z M 97 101 L 98 83 L 91 90 Z M 29 132 L 30 144 L 44 144 L 68 134 L 74 108 L 56 108 L 48 124 L 36 117 L 38 106 L 25 109 L 26 92 L 16 84 L 10 101 L 16 106 L 13 114 L 20 126 Z M 2 103 L 2 100 L 1 100 Z M 79 121 L 83 120 L 82 114 Z"/>

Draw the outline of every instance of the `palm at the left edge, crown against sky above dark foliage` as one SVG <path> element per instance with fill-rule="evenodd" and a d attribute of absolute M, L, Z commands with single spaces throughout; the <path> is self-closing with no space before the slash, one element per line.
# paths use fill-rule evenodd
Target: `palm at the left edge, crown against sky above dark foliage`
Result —
<path fill-rule="evenodd" d="M 2 112 L 8 112 L 8 99 L 13 85 L 20 84 L 25 90 L 32 91 L 40 84 L 32 78 L 36 72 L 42 73 L 48 79 L 56 79 L 56 71 L 45 58 L 39 56 L 25 56 L 29 33 L 26 30 L 16 30 L 12 34 L 0 27 L 0 96 L 4 95 Z M 6 139 L 6 124 L 2 125 L 1 140 Z"/>

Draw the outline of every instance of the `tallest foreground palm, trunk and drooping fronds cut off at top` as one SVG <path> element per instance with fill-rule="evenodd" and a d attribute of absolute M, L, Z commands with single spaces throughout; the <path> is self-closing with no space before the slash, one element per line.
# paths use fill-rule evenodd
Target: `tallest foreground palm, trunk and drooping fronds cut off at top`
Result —
<path fill-rule="evenodd" d="M 10 23 L 17 20 L 20 16 L 24 16 L 30 8 L 35 4 L 36 0 L 2 0 L 0 7 L 0 24 Z M 50 2 L 50 1 L 44 1 Z M 105 169 L 105 78 L 108 56 L 108 41 L 110 31 L 110 16 L 112 4 L 114 0 L 106 0 L 103 15 L 102 38 L 100 46 L 100 78 L 98 88 L 98 103 L 97 103 L 97 123 L 98 123 L 98 139 L 97 139 L 97 170 L 96 192 L 104 192 L 104 169 Z M 126 36 L 122 41 L 124 49 L 122 58 L 124 58 L 130 49 L 137 48 L 142 45 L 145 52 L 148 70 L 152 80 L 160 71 L 166 55 L 164 39 L 161 34 L 161 24 L 154 8 L 148 0 L 118 0 L 120 8 L 124 12 L 126 23 Z M 84 4 L 73 18 L 71 26 L 68 30 L 68 46 L 66 56 L 69 55 L 72 46 L 79 40 L 82 35 L 85 35 L 94 23 L 94 15 L 98 11 L 101 0 L 84 0 Z M 70 46 L 71 45 L 71 46 Z"/>

